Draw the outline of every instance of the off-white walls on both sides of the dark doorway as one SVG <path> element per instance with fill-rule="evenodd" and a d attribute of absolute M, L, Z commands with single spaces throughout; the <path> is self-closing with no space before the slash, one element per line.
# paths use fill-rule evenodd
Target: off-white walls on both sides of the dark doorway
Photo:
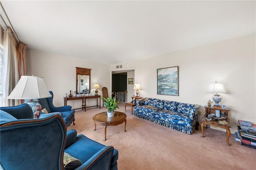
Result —
<path fill-rule="evenodd" d="M 200 119 L 205 113 L 207 101 L 212 100 L 212 94 L 206 92 L 209 83 L 216 80 L 223 82 L 228 93 L 222 94 L 220 104 L 226 104 L 231 110 L 229 117 L 231 132 L 234 133 L 237 131 L 238 119 L 256 123 L 255 36 L 247 35 L 146 60 L 122 63 L 122 69 L 134 68 L 134 83 L 140 83 L 142 97 L 199 104 L 202 111 Z M 44 77 L 48 89 L 54 92 L 56 106 L 63 106 L 65 93 L 76 89 L 75 67 L 92 68 L 91 87 L 99 83 L 101 88 L 105 86 L 111 89 L 110 70 L 115 70 L 116 64 L 109 66 L 29 49 L 27 52 L 28 75 Z M 179 96 L 157 95 L 156 70 L 170 66 L 179 66 Z M 102 94 L 101 89 L 99 94 Z M 74 108 L 80 107 L 80 101 L 68 101 L 68 104 Z"/>

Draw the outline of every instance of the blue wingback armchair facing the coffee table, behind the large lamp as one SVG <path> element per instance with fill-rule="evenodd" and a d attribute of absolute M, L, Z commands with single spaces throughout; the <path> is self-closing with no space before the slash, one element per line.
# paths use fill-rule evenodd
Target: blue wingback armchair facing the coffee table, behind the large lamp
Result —
<path fill-rule="evenodd" d="M 42 109 L 45 108 L 48 111 L 48 113 L 53 113 L 53 112 L 62 113 L 62 117 L 63 117 L 67 127 L 72 122 L 73 122 L 73 125 L 75 125 L 75 110 L 71 109 L 71 106 L 55 107 L 52 103 L 53 93 L 52 93 L 52 91 L 49 91 L 49 92 L 52 95 L 52 97 L 38 99 L 38 103 L 41 104 Z"/>

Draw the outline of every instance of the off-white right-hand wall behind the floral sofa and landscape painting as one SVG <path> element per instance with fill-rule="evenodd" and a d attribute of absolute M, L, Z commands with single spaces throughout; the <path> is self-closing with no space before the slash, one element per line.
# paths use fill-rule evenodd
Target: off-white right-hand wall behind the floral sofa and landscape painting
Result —
<path fill-rule="evenodd" d="M 256 123 L 256 43 L 255 34 L 211 43 L 200 47 L 122 63 L 123 69 L 135 68 L 135 82 L 140 82 L 142 97 L 199 104 L 212 100 L 209 84 L 223 82 L 228 93 L 220 104 L 230 108 L 231 132 L 237 131 L 238 119 Z M 116 65 L 111 65 L 114 70 Z M 157 69 L 179 66 L 179 96 L 157 95 Z M 199 121 L 201 124 L 201 121 Z M 221 129 L 222 130 L 222 129 Z"/>

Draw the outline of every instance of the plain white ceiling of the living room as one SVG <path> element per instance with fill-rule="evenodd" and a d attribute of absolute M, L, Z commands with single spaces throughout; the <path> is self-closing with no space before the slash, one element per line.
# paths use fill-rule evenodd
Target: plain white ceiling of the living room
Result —
<path fill-rule="evenodd" d="M 119 64 L 256 32 L 255 1 L 4 1 L 29 49 Z M 207 56 L 206 56 L 207 57 Z"/>

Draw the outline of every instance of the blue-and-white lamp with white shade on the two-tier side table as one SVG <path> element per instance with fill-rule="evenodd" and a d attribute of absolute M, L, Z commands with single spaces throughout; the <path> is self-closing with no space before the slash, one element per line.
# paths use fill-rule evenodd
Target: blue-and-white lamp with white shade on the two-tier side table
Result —
<path fill-rule="evenodd" d="M 222 100 L 222 96 L 220 96 L 218 93 L 226 93 L 223 83 L 218 83 L 217 81 L 215 81 L 215 83 L 210 83 L 207 92 L 216 93 L 212 95 L 212 100 L 215 102 L 213 107 L 221 107 L 219 103 Z"/>

